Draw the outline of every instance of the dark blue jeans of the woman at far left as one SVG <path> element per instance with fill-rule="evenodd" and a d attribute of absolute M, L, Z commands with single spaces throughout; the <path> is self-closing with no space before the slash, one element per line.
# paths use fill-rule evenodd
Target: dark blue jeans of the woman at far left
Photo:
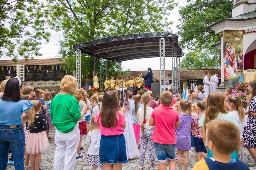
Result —
<path fill-rule="evenodd" d="M 15 169 L 24 170 L 25 135 L 22 125 L 17 125 L 14 128 L 0 125 L 0 138 L 0 169 L 7 167 L 10 145 Z"/>

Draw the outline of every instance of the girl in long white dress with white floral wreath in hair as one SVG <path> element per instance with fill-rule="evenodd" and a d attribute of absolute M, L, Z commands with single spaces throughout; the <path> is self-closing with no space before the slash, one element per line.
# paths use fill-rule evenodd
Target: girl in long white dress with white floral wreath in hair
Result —
<path fill-rule="evenodd" d="M 133 111 L 132 111 L 132 102 L 128 100 L 127 88 L 121 86 L 117 91 L 117 102 L 118 109 L 121 109 L 121 106 L 124 106 L 126 109 L 125 120 L 126 128 L 124 129 L 124 137 L 126 140 L 126 154 L 127 159 L 138 158 L 140 153 L 137 148 L 136 138 L 133 130 Z"/>

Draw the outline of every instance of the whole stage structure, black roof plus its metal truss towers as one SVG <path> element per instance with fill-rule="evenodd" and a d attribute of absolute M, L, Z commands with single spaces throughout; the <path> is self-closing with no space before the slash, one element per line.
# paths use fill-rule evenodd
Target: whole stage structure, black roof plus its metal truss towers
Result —
<path fill-rule="evenodd" d="M 172 57 L 172 88 L 180 92 L 180 59 L 183 56 L 182 49 L 178 45 L 178 36 L 171 32 L 136 33 L 120 36 L 101 38 L 97 40 L 79 43 L 73 46 L 76 50 L 77 80 L 81 87 L 81 52 L 94 56 L 93 70 L 97 61 L 100 62 L 99 83 L 103 82 L 106 71 L 103 72 L 104 60 L 112 60 L 118 63 L 118 76 L 121 75 L 121 62 L 140 58 L 160 58 L 160 89 L 165 90 L 165 57 Z M 96 60 L 96 61 L 95 61 Z M 162 88 L 162 85 L 164 88 Z M 174 86 L 175 85 L 175 86 Z"/>

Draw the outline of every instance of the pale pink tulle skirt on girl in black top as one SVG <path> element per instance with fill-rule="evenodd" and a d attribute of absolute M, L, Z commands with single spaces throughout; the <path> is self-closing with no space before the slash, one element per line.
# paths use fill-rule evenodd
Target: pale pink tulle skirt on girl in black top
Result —
<path fill-rule="evenodd" d="M 27 138 L 26 152 L 28 154 L 37 154 L 49 147 L 47 134 L 45 131 L 39 133 L 29 133 Z"/>

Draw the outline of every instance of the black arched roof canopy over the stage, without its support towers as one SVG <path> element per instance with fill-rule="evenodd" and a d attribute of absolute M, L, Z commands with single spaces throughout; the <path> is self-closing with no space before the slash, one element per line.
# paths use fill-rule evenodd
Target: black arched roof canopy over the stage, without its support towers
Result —
<path fill-rule="evenodd" d="M 82 53 L 88 55 L 120 62 L 159 57 L 160 38 L 165 38 L 166 57 L 172 56 L 172 47 L 174 51 L 176 49 L 176 56 L 183 56 L 182 49 L 178 44 L 178 36 L 171 32 L 136 33 L 101 38 L 73 45 L 73 49 L 80 49 Z"/>

